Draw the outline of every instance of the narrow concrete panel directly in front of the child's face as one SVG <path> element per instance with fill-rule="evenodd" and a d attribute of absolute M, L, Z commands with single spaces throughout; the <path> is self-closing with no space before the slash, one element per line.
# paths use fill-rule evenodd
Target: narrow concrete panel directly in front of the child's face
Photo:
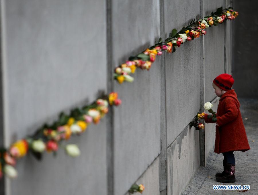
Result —
<path fill-rule="evenodd" d="M 223 7 L 224 1 L 204 1 L 204 16 L 209 15 L 216 8 Z M 224 30 L 225 25 L 212 26 L 204 36 L 204 66 L 205 66 L 205 102 L 216 97 L 212 81 L 219 74 L 225 73 L 224 68 Z"/>

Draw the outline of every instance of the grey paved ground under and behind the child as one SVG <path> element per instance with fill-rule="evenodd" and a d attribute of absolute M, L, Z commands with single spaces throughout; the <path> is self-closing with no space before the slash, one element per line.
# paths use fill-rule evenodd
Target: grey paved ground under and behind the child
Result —
<path fill-rule="evenodd" d="M 216 182 L 216 172 L 222 172 L 223 155 L 210 151 L 206 167 L 200 167 L 181 195 L 258 195 L 258 100 L 240 99 L 240 111 L 243 117 L 247 138 L 251 149 L 246 152 L 235 151 L 235 183 Z M 214 140 L 215 142 L 215 140 Z M 213 185 L 250 185 L 250 190 L 213 190 Z"/>

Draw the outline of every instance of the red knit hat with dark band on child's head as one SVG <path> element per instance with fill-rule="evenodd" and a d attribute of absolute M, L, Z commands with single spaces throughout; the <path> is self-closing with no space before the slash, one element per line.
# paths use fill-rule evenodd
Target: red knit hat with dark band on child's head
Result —
<path fill-rule="evenodd" d="M 234 79 L 230 74 L 220 74 L 213 80 L 214 84 L 222 90 L 228 91 L 231 89 Z"/>

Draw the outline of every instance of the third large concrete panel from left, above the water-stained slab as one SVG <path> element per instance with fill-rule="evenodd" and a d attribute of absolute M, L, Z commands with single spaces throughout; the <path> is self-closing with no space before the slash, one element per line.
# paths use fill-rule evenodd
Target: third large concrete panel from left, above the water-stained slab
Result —
<path fill-rule="evenodd" d="M 179 31 L 193 18 L 200 17 L 200 3 L 196 1 L 164 1 L 164 4 L 166 37 L 171 29 Z M 176 48 L 175 53 L 166 55 L 167 145 L 175 140 L 200 109 L 201 47 L 201 40 L 196 39 L 185 42 Z"/>

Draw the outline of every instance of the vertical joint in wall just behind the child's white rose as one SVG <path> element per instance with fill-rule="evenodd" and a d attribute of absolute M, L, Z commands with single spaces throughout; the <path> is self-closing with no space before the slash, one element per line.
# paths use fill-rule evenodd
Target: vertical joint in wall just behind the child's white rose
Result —
<path fill-rule="evenodd" d="M 204 17 L 204 7 L 203 0 L 200 0 L 200 15 L 201 18 Z M 204 101 L 205 101 L 205 64 L 204 64 L 204 56 L 205 56 L 205 45 L 204 45 L 205 37 L 202 36 L 202 49 L 200 51 L 200 112 L 204 112 Z M 205 160 L 205 131 L 199 131 L 199 144 L 200 144 L 200 166 L 206 165 Z"/>

